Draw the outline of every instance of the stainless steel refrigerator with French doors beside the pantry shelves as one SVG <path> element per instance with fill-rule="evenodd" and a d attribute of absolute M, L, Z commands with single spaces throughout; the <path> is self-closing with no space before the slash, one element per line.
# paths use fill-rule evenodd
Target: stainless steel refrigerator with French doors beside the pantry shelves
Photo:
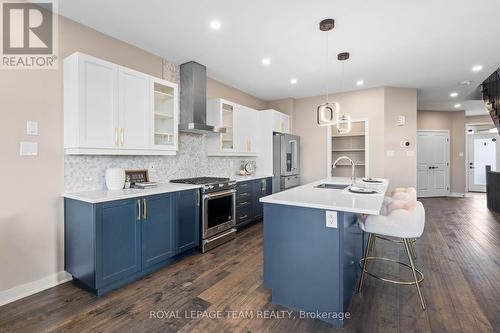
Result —
<path fill-rule="evenodd" d="M 273 175 L 273 193 L 299 185 L 300 137 L 274 133 Z"/>

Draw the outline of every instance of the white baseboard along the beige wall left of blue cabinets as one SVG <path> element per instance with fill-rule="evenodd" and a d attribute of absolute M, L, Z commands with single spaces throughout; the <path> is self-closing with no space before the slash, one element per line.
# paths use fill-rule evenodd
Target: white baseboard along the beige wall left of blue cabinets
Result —
<path fill-rule="evenodd" d="M 72 280 L 71 274 L 65 271 L 49 275 L 40 280 L 28 282 L 13 288 L 0 291 L 0 306 L 17 301 L 18 299 L 36 294 L 42 290 L 57 286 Z"/>

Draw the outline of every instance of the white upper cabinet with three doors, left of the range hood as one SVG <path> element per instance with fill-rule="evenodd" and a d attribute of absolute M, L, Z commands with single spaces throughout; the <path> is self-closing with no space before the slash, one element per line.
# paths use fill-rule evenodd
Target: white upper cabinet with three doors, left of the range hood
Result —
<path fill-rule="evenodd" d="M 64 60 L 66 154 L 175 155 L 178 87 L 82 53 Z"/>

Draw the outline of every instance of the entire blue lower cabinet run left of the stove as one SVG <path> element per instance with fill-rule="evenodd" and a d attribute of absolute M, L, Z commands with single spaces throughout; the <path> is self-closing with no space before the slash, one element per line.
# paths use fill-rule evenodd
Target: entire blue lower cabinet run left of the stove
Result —
<path fill-rule="evenodd" d="M 64 201 L 65 270 L 102 295 L 199 243 L 198 190 L 90 204 Z"/>

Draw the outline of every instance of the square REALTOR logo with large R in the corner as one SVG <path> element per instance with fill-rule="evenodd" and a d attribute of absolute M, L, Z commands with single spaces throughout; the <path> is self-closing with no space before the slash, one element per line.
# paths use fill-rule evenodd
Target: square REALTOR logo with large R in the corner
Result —
<path fill-rule="evenodd" d="M 2 1 L 1 68 L 57 69 L 55 1 Z"/>

